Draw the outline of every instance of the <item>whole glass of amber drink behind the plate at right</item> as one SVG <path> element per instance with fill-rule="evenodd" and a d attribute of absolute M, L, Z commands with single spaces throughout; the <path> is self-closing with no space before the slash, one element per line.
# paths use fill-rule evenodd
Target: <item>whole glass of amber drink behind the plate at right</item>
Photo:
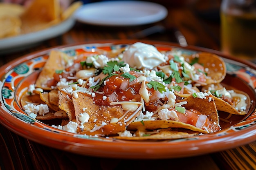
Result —
<path fill-rule="evenodd" d="M 222 0 L 221 50 L 256 61 L 256 0 Z"/>

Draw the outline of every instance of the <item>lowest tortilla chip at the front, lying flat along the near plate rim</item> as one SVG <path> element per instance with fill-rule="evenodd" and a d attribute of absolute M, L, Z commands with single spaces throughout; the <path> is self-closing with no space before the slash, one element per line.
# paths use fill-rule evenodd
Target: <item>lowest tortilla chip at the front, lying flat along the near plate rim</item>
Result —
<path fill-rule="evenodd" d="M 198 132 L 186 132 L 186 129 L 183 129 L 181 131 L 175 131 L 175 130 L 159 130 L 159 132 L 152 133 L 150 135 L 145 135 L 143 137 L 112 137 L 115 139 L 121 139 L 121 140 L 130 140 L 130 141 L 144 141 L 144 140 L 166 140 L 166 139 L 181 139 L 186 137 L 193 137 L 195 135 L 198 135 Z"/>

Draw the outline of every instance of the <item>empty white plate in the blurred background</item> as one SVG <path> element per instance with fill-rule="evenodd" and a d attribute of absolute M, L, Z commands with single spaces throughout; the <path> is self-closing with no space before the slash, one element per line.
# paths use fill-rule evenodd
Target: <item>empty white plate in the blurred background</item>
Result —
<path fill-rule="evenodd" d="M 153 2 L 107 1 L 85 4 L 75 13 L 79 22 L 104 26 L 135 26 L 166 18 L 167 9 Z"/>

